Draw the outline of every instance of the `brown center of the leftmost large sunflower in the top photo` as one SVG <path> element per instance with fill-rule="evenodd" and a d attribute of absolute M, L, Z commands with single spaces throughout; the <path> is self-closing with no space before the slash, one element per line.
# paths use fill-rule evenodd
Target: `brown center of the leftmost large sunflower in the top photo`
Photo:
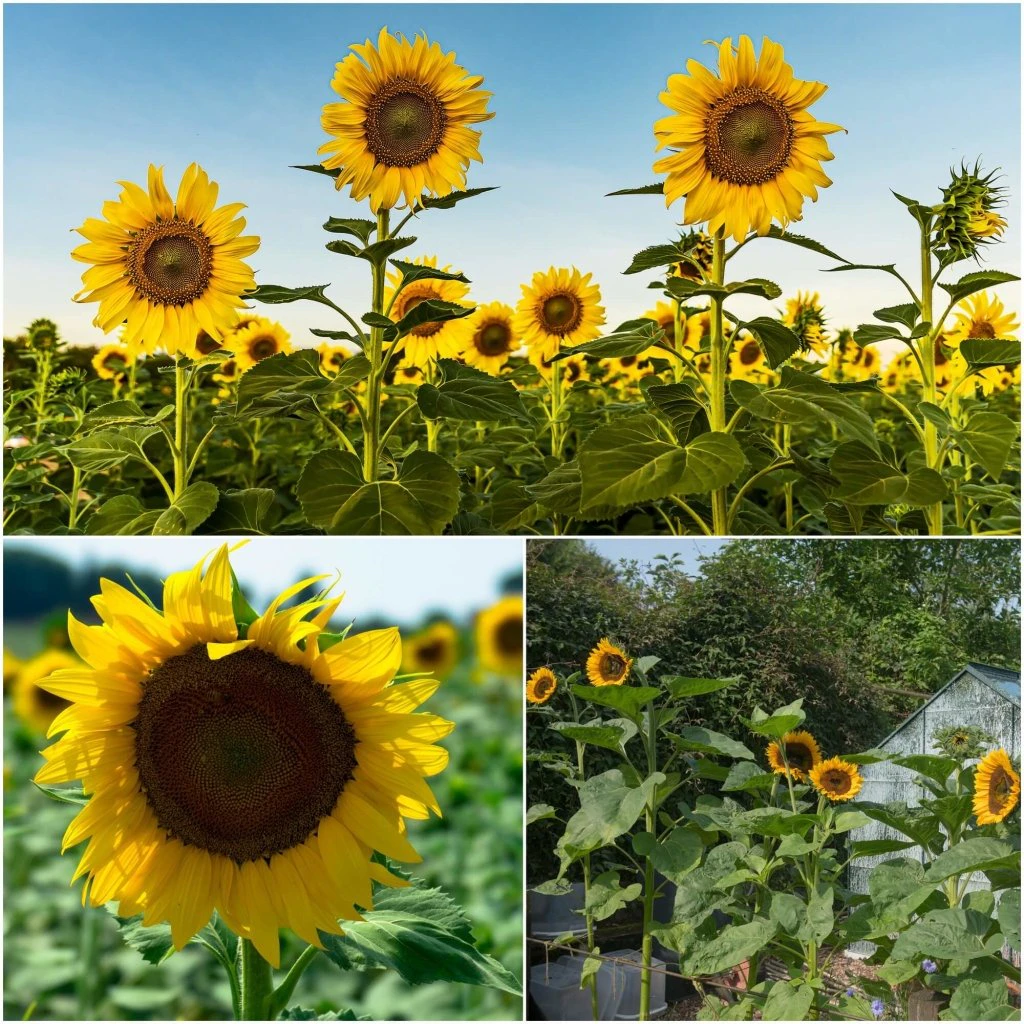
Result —
<path fill-rule="evenodd" d="M 138 231 L 126 263 L 129 281 L 151 302 L 183 306 L 206 292 L 213 247 L 195 224 L 174 217 Z"/>

